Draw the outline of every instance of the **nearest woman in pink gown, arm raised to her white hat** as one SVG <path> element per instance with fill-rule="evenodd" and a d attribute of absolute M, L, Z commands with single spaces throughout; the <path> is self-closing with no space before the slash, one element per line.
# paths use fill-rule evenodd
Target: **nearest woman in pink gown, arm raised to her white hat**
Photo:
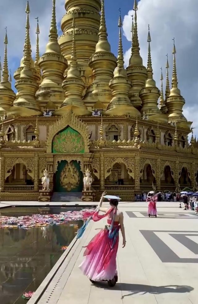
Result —
<path fill-rule="evenodd" d="M 100 230 L 86 246 L 84 260 L 79 267 L 91 282 L 108 281 L 109 286 L 114 286 L 118 281 L 116 256 L 118 251 L 119 230 L 121 230 L 123 236 L 123 248 L 126 245 L 126 239 L 123 225 L 123 212 L 120 212 L 117 208 L 118 200 L 111 199 L 110 208 L 101 208 L 104 195 L 105 192 L 103 192 L 101 196 L 96 211 L 93 213 L 85 213 L 85 217 L 87 218 L 89 216 L 89 218 L 84 226 L 87 226 L 90 219 L 98 221 L 104 217 L 107 217 L 107 225 L 104 229 Z M 99 211 L 104 214 L 99 215 Z M 84 228 L 80 228 L 80 230 L 77 238 L 82 235 Z"/>

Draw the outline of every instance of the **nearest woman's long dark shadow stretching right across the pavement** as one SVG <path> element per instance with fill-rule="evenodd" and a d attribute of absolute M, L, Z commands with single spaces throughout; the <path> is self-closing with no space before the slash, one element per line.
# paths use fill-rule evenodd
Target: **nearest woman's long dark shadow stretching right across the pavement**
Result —
<path fill-rule="evenodd" d="M 98 288 L 110 289 L 104 282 L 94 284 Z M 120 291 L 128 291 L 130 294 L 124 295 L 122 298 L 132 296 L 134 294 L 166 294 L 166 293 L 187 293 L 194 288 L 185 285 L 167 285 L 167 286 L 152 286 L 141 284 L 117 283 L 112 289 Z"/>

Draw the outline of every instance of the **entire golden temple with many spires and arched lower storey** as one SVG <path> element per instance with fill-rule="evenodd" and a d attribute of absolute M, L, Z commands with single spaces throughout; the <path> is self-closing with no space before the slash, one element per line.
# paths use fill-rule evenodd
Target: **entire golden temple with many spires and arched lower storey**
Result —
<path fill-rule="evenodd" d="M 166 89 L 153 79 L 150 28 L 148 63 L 138 40 L 138 6 L 134 1 L 131 57 L 124 67 L 122 19 L 118 19 L 118 55 L 111 52 L 104 0 L 65 0 L 63 34 L 58 37 L 55 0 L 45 53 L 32 58 L 30 6 L 25 9 L 23 58 L 11 89 L 8 34 L 0 65 L 0 197 L 38 200 L 47 169 L 53 193 L 75 196 L 83 190 L 83 173 L 92 188 L 131 201 L 135 193 L 179 191 L 198 184 L 198 142 L 192 122 L 183 116 L 185 100 L 178 88 L 173 41 L 172 85 L 166 62 Z M 2 73 L 1 73 L 2 71 Z M 159 100 L 159 102 L 158 102 Z"/>

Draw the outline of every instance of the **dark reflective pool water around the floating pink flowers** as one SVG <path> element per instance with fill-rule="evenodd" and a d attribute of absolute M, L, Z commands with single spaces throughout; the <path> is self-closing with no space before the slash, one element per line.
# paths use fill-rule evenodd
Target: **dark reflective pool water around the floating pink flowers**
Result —
<path fill-rule="evenodd" d="M 19 210 L 18 210 L 19 209 Z M 19 216 L 41 212 L 59 213 L 68 208 L 9 208 L 2 215 Z M 80 208 L 75 208 L 80 210 Z M 83 221 L 66 225 L 25 229 L 0 229 L 0 303 L 24 304 L 24 291 L 36 291 L 43 279 L 62 254 L 61 247 L 68 246 Z"/>

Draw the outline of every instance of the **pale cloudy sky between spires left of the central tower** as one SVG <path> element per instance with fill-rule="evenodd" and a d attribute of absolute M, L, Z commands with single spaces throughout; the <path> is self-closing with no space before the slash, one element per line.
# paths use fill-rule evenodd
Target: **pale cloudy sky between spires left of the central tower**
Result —
<path fill-rule="evenodd" d="M 9 68 L 15 69 L 19 66 L 20 59 L 23 56 L 23 47 L 25 40 L 25 23 L 26 23 L 26 8 L 27 0 L 7 0 L 0 1 L 0 56 L 4 54 L 4 28 L 7 27 L 8 34 L 8 60 Z M 56 19 L 60 22 L 65 14 L 64 0 L 56 0 Z M 40 26 L 40 54 L 45 52 L 45 45 L 48 41 L 52 0 L 29 0 L 30 4 L 30 38 L 32 44 L 32 57 L 35 55 L 36 47 L 36 26 L 39 17 Z M 2 58 L 3 60 L 3 58 Z"/>

